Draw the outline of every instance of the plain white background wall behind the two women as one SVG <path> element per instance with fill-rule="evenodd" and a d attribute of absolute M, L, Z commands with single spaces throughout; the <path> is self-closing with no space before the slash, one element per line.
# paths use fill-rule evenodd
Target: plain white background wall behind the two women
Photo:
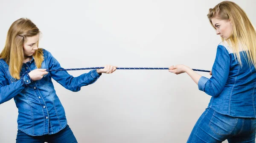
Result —
<path fill-rule="evenodd" d="M 233 1 L 255 25 L 256 1 Z M 221 39 L 207 14 L 220 2 L 0 0 L 0 50 L 12 22 L 27 17 L 42 32 L 40 47 L 64 68 L 185 64 L 211 70 Z M 187 74 L 168 70 L 117 70 L 78 93 L 54 85 L 79 143 L 185 143 L 210 99 Z M 14 143 L 16 135 L 12 99 L 0 105 L 0 143 Z"/>

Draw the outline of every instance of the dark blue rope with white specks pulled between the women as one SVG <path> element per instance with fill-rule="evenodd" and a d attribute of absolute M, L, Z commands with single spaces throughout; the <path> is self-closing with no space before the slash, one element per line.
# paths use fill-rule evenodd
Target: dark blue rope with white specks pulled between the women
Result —
<path fill-rule="evenodd" d="M 67 70 L 93 70 L 93 69 L 104 69 L 104 67 L 86 67 L 86 68 L 70 68 L 70 69 L 56 69 L 56 70 L 49 70 L 46 71 L 67 71 Z M 117 67 L 117 70 L 169 70 L 168 67 Z M 209 70 L 198 70 L 192 69 L 195 71 L 200 72 L 210 72 Z"/>

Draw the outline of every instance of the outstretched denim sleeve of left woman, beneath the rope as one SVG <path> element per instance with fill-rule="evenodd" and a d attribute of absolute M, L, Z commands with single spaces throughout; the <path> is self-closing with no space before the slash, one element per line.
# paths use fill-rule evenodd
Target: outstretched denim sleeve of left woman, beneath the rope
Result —
<path fill-rule="evenodd" d="M 50 70 L 64 69 L 49 51 L 45 51 Z M 89 73 L 84 73 L 78 77 L 71 76 L 67 71 L 50 71 L 49 73 L 52 79 L 73 92 L 81 90 L 82 86 L 93 84 L 100 77 L 96 70 L 91 70 Z"/>

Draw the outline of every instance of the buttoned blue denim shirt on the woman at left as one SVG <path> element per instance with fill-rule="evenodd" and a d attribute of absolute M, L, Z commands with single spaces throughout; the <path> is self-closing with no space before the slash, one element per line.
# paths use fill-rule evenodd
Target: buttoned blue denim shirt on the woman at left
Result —
<path fill-rule="evenodd" d="M 49 51 L 44 50 L 42 69 L 63 69 Z M 67 71 L 51 71 L 41 80 L 30 80 L 28 73 L 35 70 L 34 59 L 23 63 L 21 79 L 12 78 L 9 66 L 0 59 L 0 104 L 14 98 L 18 108 L 18 129 L 31 136 L 51 135 L 67 125 L 64 108 L 54 90 L 52 79 L 63 87 L 77 92 L 82 86 L 93 84 L 96 70 L 73 77 Z"/>

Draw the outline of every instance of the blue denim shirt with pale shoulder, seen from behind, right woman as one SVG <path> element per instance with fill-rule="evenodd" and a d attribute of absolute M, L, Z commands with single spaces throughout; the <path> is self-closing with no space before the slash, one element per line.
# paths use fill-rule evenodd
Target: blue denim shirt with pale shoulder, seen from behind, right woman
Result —
<path fill-rule="evenodd" d="M 243 54 L 245 51 L 240 50 L 242 65 L 239 65 L 232 48 L 227 42 L 221 42 L 212 67 L 212 77 L 207 79 L 202 76 L 198 88 L 212 96 L 208 107 L 216 112 L 256 118 L 256 70 Z"/>

